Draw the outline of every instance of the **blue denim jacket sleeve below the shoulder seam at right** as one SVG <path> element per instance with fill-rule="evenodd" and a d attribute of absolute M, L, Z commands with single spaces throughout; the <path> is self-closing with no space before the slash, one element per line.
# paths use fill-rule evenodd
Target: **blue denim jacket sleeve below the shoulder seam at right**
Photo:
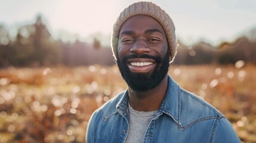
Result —
<path fill-rule="evenodd" d="M 215 129 L 214 142 L 241 142 L 231 123 L 225 117 L 218 122 Z"/>

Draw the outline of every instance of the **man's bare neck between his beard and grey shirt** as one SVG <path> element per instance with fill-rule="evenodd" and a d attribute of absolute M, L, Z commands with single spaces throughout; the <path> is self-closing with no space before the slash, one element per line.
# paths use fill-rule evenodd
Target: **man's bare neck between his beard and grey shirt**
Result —
<path fill-rule="evenodd" d="M 158 110 L 165 97 L 168 86 L 168 74 L 153 89 L 144 92 L 132 91 L 129 88 L 129 104 L 137 111 L 155 111 Z"/>

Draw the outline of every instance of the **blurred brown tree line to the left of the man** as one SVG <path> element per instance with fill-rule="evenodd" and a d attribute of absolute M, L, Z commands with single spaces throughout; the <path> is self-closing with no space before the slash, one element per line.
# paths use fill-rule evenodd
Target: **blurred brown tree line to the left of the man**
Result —
<path fill-rule="evenodd" d="M 11 38 L 9 31 L 0 25 L 0 67 L 114 63 L 111 49 L 101 48 L 100 41 L 96 38 L 92 45 L 78 40 L 74 43 L 55 40 L 41 15 L 34 24 L 19 27 L 15 38 Z"/>

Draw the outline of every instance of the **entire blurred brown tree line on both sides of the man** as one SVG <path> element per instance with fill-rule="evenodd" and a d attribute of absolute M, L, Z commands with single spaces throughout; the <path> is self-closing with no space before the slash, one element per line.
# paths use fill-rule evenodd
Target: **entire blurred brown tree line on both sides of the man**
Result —
<path fill-rule="evenodd" d="M 251 31 L 256 37 L 256 30 Z M 223 42 L 218 47 L 199 42 L 187 47 L 179 41 L 174 64 L 234 64 L 238 60 L 256 64 L 256 40 L 238 38 L 233 43 Z M 34 24 L 21 26 L 15 38 L 0 25 L 0 67 L 8 66 L 83 66 L 89 64 L 115 64 L 111 48 L 102 48 L 94 39 L 85 42 L 64 43 L 55 40 L 39 15 Z"/>

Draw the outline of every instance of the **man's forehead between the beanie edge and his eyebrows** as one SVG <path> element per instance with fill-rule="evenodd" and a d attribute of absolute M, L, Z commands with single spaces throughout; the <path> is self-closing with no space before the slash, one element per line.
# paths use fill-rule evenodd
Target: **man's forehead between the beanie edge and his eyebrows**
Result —
<path fill-rule="evenodd" d="M 122 24 L 119 34 L 124 31 L 134 31 L 134 32 L 144 32 L 144 30 L 158 29 L 162 33 L 165 33 L 163 27 L 161 26 L 155 18 L 148 15 L 135 15 Z"/>

